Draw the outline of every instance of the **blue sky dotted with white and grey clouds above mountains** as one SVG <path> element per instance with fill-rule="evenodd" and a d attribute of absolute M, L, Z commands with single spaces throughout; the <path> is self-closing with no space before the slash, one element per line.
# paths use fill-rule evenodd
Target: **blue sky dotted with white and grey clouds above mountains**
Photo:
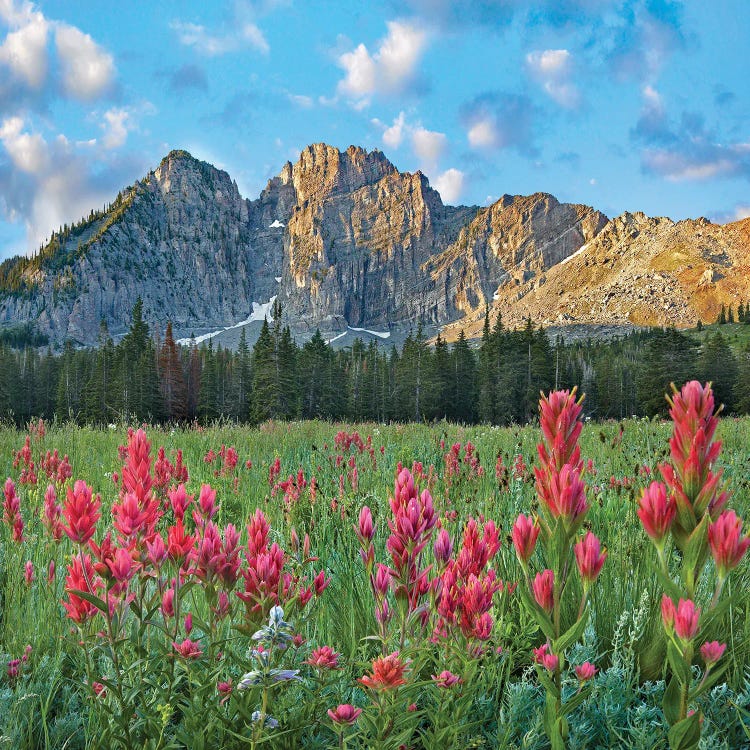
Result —
<path fill-rule="evenodd" d="M 746 0 L 0 0 L 0 258 L 173 148 L 254 198 L 309 143 L 446 203 L 750 215 Z"/>

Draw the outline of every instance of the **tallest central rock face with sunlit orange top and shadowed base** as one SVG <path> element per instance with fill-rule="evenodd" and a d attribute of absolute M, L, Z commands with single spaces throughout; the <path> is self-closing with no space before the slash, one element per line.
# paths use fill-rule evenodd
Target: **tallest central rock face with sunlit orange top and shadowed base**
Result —
<path fill-rule="evenodd" d="M 353 147 L 310 146 L 292 182 L 282 281 L 290 320 L 387 327 L 454 314 L 423 265 L 476 209 L 444 206 L 421 173 L 401 174 L 379 151 Z"/>

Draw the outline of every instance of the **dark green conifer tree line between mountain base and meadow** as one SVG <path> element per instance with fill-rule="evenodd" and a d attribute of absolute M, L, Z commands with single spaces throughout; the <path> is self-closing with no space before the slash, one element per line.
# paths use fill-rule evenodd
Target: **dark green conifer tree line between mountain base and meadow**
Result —
<path fill-rule="evenodd" d="M 139 300 L 114 344 L 62 353 L 0 340 L 0 418 L 108 424 L 130 421 L 258 424 L 268 419 L 424 421 L 506 425 L 536 414 L 540 391 L 578 386 L 593 419 L 666 415 L 669 383 L 712 381 L 725 413 L 750 413 L 750 349 L 735 352 L 719 332 L 699 344 L 675 329 L 610 342 L 551 342 L 531 321 L 521 330 L 485 316 L 478 348 L 463 332 L 428 343 L 421 327 L 399 351 L 357 339 L 334 350 L 320 332 L 304 345 L 282 324 L 281 307 L 254 346 L 179 346 L 171 324 L 151 335 Z"/>

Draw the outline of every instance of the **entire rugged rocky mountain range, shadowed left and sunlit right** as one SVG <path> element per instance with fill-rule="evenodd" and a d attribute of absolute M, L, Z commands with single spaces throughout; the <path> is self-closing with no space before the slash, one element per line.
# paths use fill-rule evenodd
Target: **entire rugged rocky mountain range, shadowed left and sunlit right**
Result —
<path fill-rule="evenodd" d="M 417 321 L 476 334 L 488 304 L 510 325 L 692 325 L 750 298 L 749 258 L 750 221 L 610 221 L 545 193 L 446 206 L 377 150 L 308 146 L 255 200 L 172 151 L 36 256 L 0 265 L 0 325 L 90 345 L 102 320 L 122 334 L 139 296 L 178 337 L 262 318 L 274 297 L 303 338 Z"/>

